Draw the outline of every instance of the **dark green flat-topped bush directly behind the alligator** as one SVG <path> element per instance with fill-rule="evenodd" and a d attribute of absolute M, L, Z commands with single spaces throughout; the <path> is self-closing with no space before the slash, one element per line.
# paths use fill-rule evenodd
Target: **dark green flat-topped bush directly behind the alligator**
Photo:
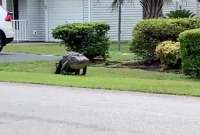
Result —
<path fill-rule="evenodd" d="M 54 38 L 64 41 L 70 51 L 93 59 L 97 56 L 106 58 L 108 55 L 108 30 L 109 26 L 103 23 L 72 23 L 58 26 L 52 34 Z"/>

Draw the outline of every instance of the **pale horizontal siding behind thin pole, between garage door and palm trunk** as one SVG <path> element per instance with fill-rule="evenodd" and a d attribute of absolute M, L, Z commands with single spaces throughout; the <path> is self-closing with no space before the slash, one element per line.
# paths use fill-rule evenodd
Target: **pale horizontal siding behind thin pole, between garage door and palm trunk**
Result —
<path fill-rule="evenodd" d="M 117 40 L 118 11 L 112 9 L 112 0 L 92 0 L 91 19 L 94 22 L 105 22 L 110 25 L 109 36 L 111 40 Z M 121 39 L 130 40 L 132 29 L 142 19 L 142 7 L 139 1 L 133 4 L 124 3 L 122 6 Z"/>

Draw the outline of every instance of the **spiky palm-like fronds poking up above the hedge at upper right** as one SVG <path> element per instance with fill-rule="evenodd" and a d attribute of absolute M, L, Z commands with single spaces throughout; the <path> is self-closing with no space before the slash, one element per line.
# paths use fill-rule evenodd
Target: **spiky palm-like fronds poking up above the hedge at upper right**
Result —
<path fill-rule="evenodd" d="M 175 11 L 170 11 L 166 14 L 167 18 L 192 18 L 195 14 L 191 10 L 180 9 Z"/>

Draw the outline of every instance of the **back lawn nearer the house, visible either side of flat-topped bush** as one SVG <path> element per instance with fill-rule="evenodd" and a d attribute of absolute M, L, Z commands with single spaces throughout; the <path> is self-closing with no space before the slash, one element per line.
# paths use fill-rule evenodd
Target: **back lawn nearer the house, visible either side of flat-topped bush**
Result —
<path fill-rule="evenodd" d="M 64 45 L 60 45 L 59 43 L 9 44 L 3 51 L 50 55 L 63 55 L 66 52 Z M 134 53 L 129 52 L 129 43 L 127 42 L 122 43 L 120 52 L 118 51 L 117 44 L 111 43 L 109 53 L 109 61 L 133 61 L 137 58 Z"/>

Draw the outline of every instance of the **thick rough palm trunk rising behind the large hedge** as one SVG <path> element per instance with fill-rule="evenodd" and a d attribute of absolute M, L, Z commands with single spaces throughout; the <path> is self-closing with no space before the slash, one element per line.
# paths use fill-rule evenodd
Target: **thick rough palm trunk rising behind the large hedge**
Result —
<path fill-rule="evenodd" d="M 162 16 L 162 7 L 164 0 L 141 0 L 143 7 L 143 18 L 159 18 Z"/>

